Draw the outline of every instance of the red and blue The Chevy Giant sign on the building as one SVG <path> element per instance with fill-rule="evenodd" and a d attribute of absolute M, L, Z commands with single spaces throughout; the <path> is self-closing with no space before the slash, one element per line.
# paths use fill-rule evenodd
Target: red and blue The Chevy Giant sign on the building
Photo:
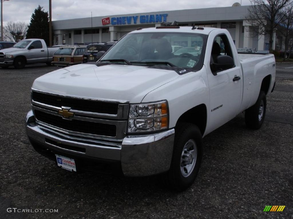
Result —
<path fill-rule="evenodd" d="M 110 19 L 103 18 L 103 25 L 126 25 L 126 24 L 146 24 L 146 23 L 161 23 L 167 21 L 168 14 L 151 14 L 151 15 L 137 15 L 137 16 L 125 16 L 125 17 L 113 17 Z M 111 20 L 111 22 L 110 22 Z"/>

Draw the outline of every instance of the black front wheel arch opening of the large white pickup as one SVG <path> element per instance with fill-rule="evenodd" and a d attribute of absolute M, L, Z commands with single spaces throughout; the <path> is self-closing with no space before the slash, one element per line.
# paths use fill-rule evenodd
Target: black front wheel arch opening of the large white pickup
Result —
<path fill-rule="evenodd" d="M 207 126 L 207 107 L 205 104 L 197 105 L 186 112 L 184 112 L 177 120 L 176 126 L 179 123 L 188 122 L 195 124 L 199 129 L 201 134 L 205 133 L 205 129 Z"/>

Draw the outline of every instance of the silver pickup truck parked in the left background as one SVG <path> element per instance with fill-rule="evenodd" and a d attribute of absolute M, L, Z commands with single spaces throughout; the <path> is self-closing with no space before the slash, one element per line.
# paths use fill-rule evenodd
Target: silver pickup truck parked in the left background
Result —
<path fill-rule="evenodd" d="M 22 69 L 26 64 L 46 63 L 51 65 L 53 53 L 59 46 L 47 47 L 43 39 L 24 39 L 11 48 L 0 52 L 0 67 L 14 66 Z"/>

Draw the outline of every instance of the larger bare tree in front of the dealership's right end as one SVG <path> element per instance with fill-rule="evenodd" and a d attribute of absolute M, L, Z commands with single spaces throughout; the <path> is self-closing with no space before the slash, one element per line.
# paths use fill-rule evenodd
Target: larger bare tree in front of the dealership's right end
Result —
<path fill-rule="evenodd" d="M 285 15 L 282 10 L 292 4 L 292 0 L 250 0 L 251 7 L 244 19 L 251 25 L 253 34 L 269 34 L 269 50 L 272 51 L 273 33 Z"/>

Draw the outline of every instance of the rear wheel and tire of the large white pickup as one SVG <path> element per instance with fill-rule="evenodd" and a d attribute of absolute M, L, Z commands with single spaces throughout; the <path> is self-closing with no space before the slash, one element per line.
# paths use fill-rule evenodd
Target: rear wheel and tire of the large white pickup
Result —
<path fill-rule="evenodd" d="M 260 91 L 256 103 L 245 110 L 245 124 L 248 128 L 259 129 L 265 119 L 267 99 L 265 92 Z"/>

